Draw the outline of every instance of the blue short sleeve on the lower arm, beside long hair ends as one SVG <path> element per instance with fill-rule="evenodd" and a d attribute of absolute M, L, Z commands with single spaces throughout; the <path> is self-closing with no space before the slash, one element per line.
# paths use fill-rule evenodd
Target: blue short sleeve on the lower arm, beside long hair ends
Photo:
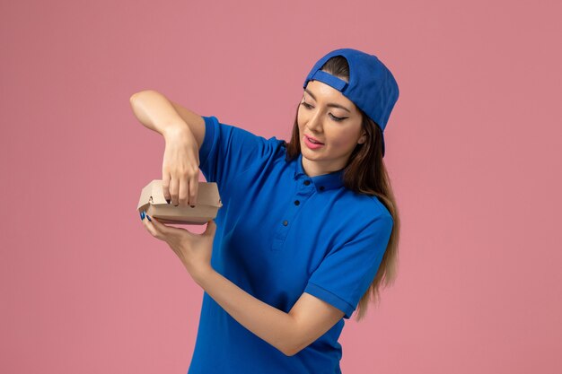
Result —
<path fill-rule="evenodd" d="M 332 248 L 312 273 L 304 292 L 345 312 L 349 319 L 373 283 L 386 251 L 393 220 L 382 215 L 345 244 Z"/>

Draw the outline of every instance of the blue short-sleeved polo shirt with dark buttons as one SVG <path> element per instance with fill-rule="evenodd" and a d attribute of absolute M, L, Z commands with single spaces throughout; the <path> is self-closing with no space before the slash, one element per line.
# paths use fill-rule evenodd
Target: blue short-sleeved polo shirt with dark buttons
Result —
<path fill-rule="evenodd" d="M 286 313 L 307 292 L 345 316 L 286 356 L 204 292 L 188 373 L 341 373 L 338 337 L 381 264 L 391 214 L 375 196 L 344 187 L 343 170 L 309 177 L 302 154 L 285 161 L 283 140 L 203 118 L 199 168 L 223 203 L 215 218 L 215 271 Z"/>

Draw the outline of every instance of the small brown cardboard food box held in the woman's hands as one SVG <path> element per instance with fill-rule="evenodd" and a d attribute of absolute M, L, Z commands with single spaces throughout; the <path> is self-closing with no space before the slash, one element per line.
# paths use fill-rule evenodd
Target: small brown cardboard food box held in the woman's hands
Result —
<path fill-rule="evenodd" d="M 199 182 L 197 203 L 192 208 L 168 204 L 162 193 L 162 179 L 154 179 L 143 188 L 136 210 L 162 223 L 205 224 L 216 217 L 221 206 L 215 182 Z"/>

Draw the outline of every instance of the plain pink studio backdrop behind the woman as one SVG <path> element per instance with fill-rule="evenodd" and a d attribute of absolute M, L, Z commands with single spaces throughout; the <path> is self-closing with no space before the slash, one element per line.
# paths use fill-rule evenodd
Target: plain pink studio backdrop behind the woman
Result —
<path fill-rule="evenodd" d="M 2 2 L 0 372 L 185 373 L 203 291 L 136 213 L 164 144 L 129 97 L 287 139 L 305 75 L 344 47 L 400 84 L 385 161 L 403 225 L 397 283 L 344 328 L 344 374 L 561 372 L 560 11 Z"/>

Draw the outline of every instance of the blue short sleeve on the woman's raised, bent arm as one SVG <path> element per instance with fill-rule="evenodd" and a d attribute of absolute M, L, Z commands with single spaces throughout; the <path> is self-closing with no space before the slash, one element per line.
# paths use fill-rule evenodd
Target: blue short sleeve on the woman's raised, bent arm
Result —
<path fill-rule="evenodd" d="M 216 182 L 219 192 L 242 171 L 267 159 L 279 142 L 237 126 L 222 124 L 215 116 L 205 117 L 205 137 L 199 149 L 199 169 L 207 182 Z"/>

